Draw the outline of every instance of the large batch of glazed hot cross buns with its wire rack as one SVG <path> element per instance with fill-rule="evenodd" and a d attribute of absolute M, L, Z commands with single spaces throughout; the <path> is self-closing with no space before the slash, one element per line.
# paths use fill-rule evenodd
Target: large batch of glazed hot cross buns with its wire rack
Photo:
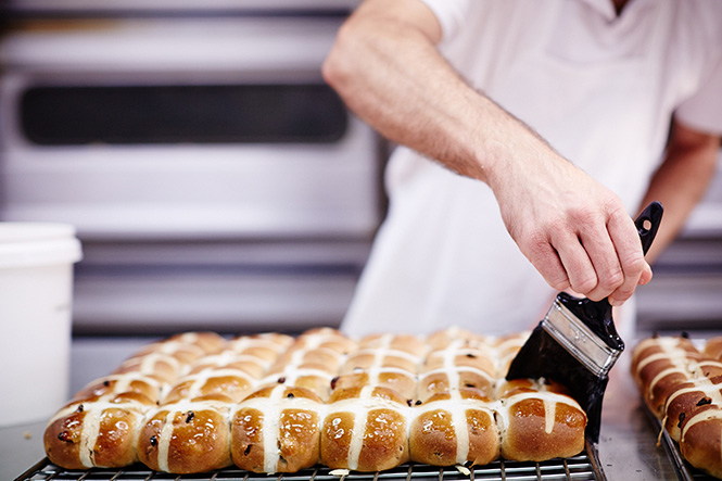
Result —
<path fill-rule="evenodd" d="M 605 479 L 565 387 L 504 379 L 527 338 L 176 334 L 59 406 L 21 479 Z"/>

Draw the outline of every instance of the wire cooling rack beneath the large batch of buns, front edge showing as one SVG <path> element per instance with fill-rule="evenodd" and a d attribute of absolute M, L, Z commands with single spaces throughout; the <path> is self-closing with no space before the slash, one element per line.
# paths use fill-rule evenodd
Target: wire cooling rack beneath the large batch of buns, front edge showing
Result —
<path fill-rule="evenodd" d="M 436 466 L 406 464 L 394 469 L 380 472 L 356 472 L 349 474 L 331 474 L 325 467 L 304 469 L 294 473 L 264 474 L 244 471 L 238 468 L 226 468 L 219 471 L 200 474 L 168 474 L 150 471 L 142 465 L 134 465 L 122 469 L 90 469 L 74 471 L 60 468 L 47 458 L 28 469 L 15 481 L 21 480 L 58 480 L 58 481 L 606 481 L 600 468 L 596 447 L 587 442 L 580 455 L 571 458 L 555 458 L 542 463 L 519 463 L 504 459 L 485 466 L 469 468 L 464 473 L 455 467 L 440 468 Z"/>

